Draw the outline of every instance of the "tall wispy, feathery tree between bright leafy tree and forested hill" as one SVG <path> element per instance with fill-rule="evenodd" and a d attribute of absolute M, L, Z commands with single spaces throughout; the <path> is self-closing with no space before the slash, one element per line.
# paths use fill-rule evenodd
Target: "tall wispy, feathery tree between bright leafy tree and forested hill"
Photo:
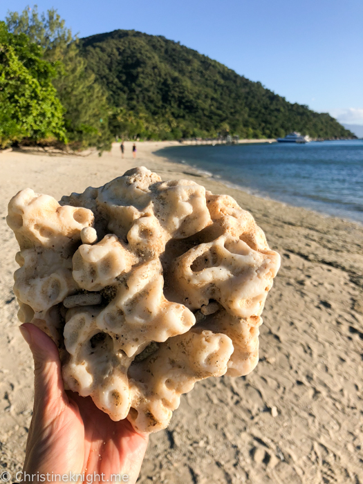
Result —
<path fill-rule="evenodd" d="M 73 149 L 96 146 L 101 151 L 111 148 L 109 105 L 106 91 L 95 82 L 86 59 L 79 55 L 77 37 L 54 8 L 39 15 L 37 6 L 26 7 L 21 14 L 9 12 L 6 21 L 14 33 L 24 33 L 44 48 L 44 57 L 57 62 L 53 85 L 64 106 L 64 122 Z"/>

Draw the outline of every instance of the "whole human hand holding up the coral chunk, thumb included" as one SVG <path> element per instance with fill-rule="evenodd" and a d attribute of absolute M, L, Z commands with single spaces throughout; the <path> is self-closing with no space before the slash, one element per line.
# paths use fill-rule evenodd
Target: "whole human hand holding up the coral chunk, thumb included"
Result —
<path fill-rule="evenodd" d="M 113 422 L 91 397 L 65 391 L 59 353 L 52 339 L 30 323 L 22 324 L 20 331 L 35 366 L 34 411 L 24 472 L 60 476 L 84 473 L 86 482 L 93 482 L 95 474 L 103 474 L 96 476 L 97 480 L 111 482 L 111 474 L 119 474 L 119 482 L 136 483 L 148 436 L 138 434 L 129 420 Z M 124 474 L 129 476 L 127 481 L 122 481 Z M 93 478 L 87 481 L 89 475 Z"/>

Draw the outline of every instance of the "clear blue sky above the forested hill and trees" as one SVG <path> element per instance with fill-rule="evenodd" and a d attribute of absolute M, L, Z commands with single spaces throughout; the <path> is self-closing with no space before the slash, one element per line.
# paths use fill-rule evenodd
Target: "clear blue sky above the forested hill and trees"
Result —
<path fill-rule="evenodd" d="M 0 2 L 0 19 L 23 10 Z M 32 3 L 30 6 L 32 7 Z M 290 102 L 363 124 L 362 0 L 38 0 L 80 37 L 118 28 L 180 41 Z"/>

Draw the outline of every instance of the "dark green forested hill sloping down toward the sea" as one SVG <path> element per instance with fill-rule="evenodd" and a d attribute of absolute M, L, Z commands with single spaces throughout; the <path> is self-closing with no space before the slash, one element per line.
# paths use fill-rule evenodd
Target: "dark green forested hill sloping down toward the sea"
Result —
<path fill-rule="evenodd" d="M 109 93 L 111 129 L 123 136 L 354 137 L 331 115 L 291 104 L 196 50 L 165 37 L 115 30 L 80 40 Z"/>

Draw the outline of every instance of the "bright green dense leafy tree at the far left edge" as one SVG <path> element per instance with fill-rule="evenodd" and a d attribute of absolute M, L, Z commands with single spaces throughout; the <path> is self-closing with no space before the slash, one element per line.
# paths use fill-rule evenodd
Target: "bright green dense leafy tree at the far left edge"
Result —
<path fill-rule="evenodd" d="M 0 147 L 26 137 L 67 141 L 55 75 L 39 46 L 8 32 L 0 21 Z"/>

